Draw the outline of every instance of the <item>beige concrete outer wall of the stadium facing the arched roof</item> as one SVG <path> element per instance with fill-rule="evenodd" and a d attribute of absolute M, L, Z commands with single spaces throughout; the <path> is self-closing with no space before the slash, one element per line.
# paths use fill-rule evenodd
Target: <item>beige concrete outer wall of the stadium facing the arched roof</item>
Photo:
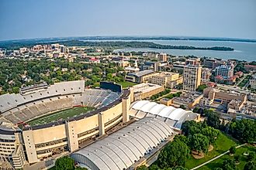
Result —
<path fill-rule="evenodd" d="M 95 114 L 50 128 L 23 131 L 22 136 L 29 163 L 39 162 L 40 159 L 47 158 L 56 151 L 75 151 L 79 148 L 79 141 L 92 140 L 101 135 L 99 134 L 101 128 L 105 132 L 106 129 L 109 130 L 119 124 L 123 121 L 123 103 L 120 102 L 116 106 L 102 111 L 101 114 L 102 124 L 105 124 L 103 127 L 99 126 L 99 116 Z M 79 137 L 78 134 L 80 134 Z M 92 136 L 93 138 L 90 138 Z"/>

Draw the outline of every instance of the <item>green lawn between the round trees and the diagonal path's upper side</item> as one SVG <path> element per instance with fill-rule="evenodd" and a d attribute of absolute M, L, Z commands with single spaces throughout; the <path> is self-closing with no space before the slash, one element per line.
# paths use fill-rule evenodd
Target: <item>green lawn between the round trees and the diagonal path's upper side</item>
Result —
<path fill-rule="evenodd" d="M 237 141 L 227 136 L 224 133 L 220 133 L 220 136 L 216 139 L 216 144 L 214 145 L 213 151 L 209 151 L 204 158 L 195 159 L 190 155 L 190 157 L 185 162 L 186 168 L 194 168 L 195 166 L 201 165 L 203 162 L 209 161 L 209 159 L 222 154 L 223 152 L 230 149 L 231 146 L 238 145 Z"/>

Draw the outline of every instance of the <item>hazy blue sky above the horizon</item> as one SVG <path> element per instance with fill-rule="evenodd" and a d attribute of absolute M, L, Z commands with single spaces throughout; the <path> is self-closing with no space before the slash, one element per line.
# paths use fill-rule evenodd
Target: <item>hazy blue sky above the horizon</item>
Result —
<path fill-rule="evenodd" d="M 255 0 L 0 0 L 0 40 L 67 36 L 256 39 Z"/>

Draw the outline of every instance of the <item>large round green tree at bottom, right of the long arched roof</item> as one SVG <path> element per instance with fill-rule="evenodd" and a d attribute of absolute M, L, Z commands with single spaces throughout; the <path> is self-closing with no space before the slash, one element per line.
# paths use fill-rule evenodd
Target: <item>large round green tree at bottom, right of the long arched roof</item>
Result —
<path fill-rule="evenodd" d="M 172 141 L 161 150 L 157 165 L 160 168 L 185 165 L 185 159 L 189 156 L 189 147 L 182 141 Z"/>

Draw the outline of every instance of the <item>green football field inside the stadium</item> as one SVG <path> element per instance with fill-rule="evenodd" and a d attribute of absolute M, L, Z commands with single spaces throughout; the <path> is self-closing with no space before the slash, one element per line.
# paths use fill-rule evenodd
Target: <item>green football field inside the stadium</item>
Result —
<path fill-rule="evenodd" d="M 61 110 L 54 112 L 52 114 L 47 114 L 42 117 L 38 117 L 32 121 L 29 121 L 27 124 L 30 126 L 47 124 L 50 122 L 58 121 L 58 120 L 66 120 L 67 118 L 74 117 L 76 115 L 85 114 L 88 111 L 94 110 L 93 107 L 74 107 L 67 110 Z"/>

